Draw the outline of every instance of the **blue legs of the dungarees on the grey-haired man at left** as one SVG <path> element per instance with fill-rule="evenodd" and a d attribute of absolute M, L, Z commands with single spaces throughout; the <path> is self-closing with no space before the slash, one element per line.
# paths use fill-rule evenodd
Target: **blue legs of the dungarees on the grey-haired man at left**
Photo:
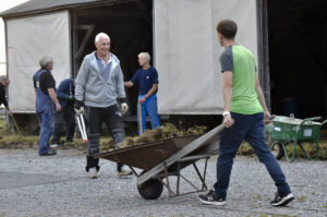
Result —
<path fill-rule="evenodd" d="M 49 108 L 48 108 L 49 107 Z M 37 118 L 39 121 L 39 142 L 38 142 L 38 154 L 47 154 L 50 149 L 49 140 L 53 131 L 53 117 L 55 111 L 52 106 L 48 106 L 44 111 L 37 111 Z"/>

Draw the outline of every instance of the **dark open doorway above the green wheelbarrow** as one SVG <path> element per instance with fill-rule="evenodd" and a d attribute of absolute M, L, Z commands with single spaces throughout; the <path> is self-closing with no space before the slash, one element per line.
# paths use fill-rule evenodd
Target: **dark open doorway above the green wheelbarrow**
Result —
<path fill-rule="evenodd" d="M 271 110 L 327 114 L 327 1 L 267 0 Z"/>

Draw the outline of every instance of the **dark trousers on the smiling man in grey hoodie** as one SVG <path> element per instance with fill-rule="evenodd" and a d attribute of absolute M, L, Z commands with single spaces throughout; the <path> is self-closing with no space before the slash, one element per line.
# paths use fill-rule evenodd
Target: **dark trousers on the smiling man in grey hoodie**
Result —
<path fill-rule="evenodd" d="M 122 143 L 125 137 L 124 122 L 118 104 L 107 108 L 86 107 L 87 156 L 99 153 L 99 138 L 102 122 L 107 125 L 114 144 Z"/>

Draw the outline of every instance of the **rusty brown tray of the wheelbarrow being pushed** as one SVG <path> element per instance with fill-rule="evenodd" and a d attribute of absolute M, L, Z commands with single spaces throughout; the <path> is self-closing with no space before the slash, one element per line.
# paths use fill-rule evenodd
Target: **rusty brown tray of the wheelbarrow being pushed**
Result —
<path fill-rule="evenodd" d="M 105 152 L 95 157 L 149 170 L 199 135 L 177 136 L 118 150 Z"/>

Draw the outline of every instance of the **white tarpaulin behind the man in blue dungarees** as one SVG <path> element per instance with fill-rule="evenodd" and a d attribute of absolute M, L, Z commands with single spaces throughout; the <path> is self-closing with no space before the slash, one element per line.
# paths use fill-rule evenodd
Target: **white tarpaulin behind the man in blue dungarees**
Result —
<path fill-rule="evenodd" d="M 45 55 L 53 58 L 58 84 L 71 74 L 69 12 L 7 21 L 9 106 L 14 112 L 35 112 L 33 75 Z"/>

